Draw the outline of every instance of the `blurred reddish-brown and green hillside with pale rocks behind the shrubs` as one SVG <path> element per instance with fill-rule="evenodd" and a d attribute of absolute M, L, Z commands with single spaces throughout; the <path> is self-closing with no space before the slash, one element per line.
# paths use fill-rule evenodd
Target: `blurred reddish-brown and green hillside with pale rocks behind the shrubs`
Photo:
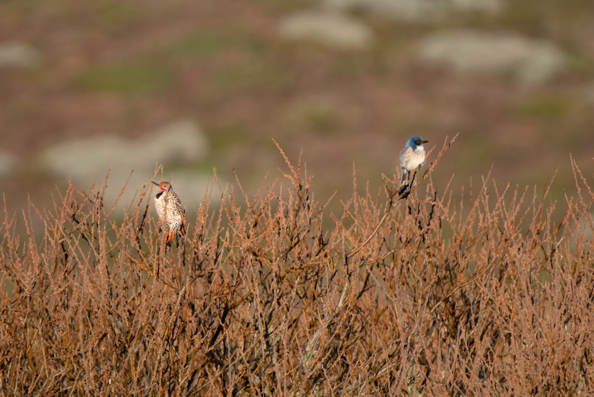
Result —
<path fill-rule="evenodd" d="M 111 167 L 115 198 L 158 163 L 191 209 L 213 167 L 248 193 L 279 177 L 274 139 L 326 201 L 353 164 L 377 192 L 410 136 L 459 134 L 442 191 L 557 171 L 563 201 L 570 154 L 594 171 L 593 21 L 590 0 L 3 0 L 2 190 L 43 207 Z"/>

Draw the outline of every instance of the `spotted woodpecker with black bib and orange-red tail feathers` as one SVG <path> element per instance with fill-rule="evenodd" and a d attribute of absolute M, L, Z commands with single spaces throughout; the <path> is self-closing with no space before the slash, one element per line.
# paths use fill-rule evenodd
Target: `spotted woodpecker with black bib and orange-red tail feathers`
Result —
<path fill-rule="evenodd" d="M 165 244 L 169 246 L 179 232 L 182 236 L 186 233 L 185 227 L 185 209 L 182 202 L 169 182 L 154 182 L 159 187 L 159 192 L 154 196 L 154 208 L 157 210 L 159 220 L 163 228 L 167 231 Z"/>

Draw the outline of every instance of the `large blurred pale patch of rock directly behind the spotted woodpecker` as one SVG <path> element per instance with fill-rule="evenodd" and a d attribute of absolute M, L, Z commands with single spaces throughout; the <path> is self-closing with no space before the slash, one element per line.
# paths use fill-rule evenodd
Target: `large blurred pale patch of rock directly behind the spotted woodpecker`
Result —
<path fill-rule="evenodd" d="M 154 188 L 151 179 L 160 182 L 162 177 L 170 180 L 185 203 L 195 205 L 204 195 L 208 177 L 188 169 L 203 159 L 207 151 L 207 139 L 200 128 L 191 121 L 181 120 L 140 139 L 100 135 L 61 142 L 46 148 L 39 161 L 44 170 L 56 177 L 71 179 L 81 189 L 103 183 L 110 170 L 105 195 L 108 203 L 115 201 L 128 178 L 122 196 L 124 204 L 143 185 Z M 176 165 L 174 171 L 167 167 L 172 163 Z M 160 164 L 163 164 L 163 172 L 155 176 Z"/>

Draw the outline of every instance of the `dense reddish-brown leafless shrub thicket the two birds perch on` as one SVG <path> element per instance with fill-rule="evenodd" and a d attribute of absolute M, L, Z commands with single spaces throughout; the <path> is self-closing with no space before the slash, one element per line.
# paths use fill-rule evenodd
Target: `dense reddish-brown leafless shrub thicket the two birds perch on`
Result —
<path fill-rule="evenodd" d="M 169 250 L 149 186 L 121 221 L 103 186 L 5 213 L 2 393 L 593 392 L 594 195 L 574 163 L 577 198 L 554 224 L 546 189 L 485 179 L 452 202 L 437 160 L 407 199 L 384 179 L 384 198 L 353 189 L 328 214 L 285 160 L 253 197 L 211 186 Z"/>

